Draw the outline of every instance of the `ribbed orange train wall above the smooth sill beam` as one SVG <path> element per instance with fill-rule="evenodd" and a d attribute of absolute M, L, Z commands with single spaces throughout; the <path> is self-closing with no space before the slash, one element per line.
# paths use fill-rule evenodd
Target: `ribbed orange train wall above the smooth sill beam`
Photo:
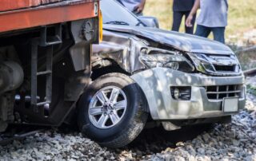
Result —
<path fill-rule="evenodd" d="M 61 2 L 64 0 L 1 0 L 0 12 L 6 10 L 18 10 L 31 6 L 40 6 L 51 2 Z"/>

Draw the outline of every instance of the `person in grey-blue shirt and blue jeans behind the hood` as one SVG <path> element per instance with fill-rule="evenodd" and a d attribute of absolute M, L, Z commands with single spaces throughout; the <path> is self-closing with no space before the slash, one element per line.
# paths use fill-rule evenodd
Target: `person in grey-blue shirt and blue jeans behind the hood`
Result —
<path fill-rule="evenodd" d="M 201 13 L 197 18 L 198 25 L 195 34 L 208 37 L 210 32 L 213 32 L 214 40 L 224 44 L 228 13 L 227 0 L 195 0 L 193 9 L 186 19 L 186 26 L 193 26 L 194 14 L 199 8 L 201 8 Z"/>

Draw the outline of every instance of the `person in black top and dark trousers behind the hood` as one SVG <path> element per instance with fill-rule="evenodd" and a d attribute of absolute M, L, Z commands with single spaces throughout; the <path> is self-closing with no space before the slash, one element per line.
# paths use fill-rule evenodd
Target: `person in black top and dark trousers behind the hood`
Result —
<path fill-rule="evenodd" d="M 190 15 L 190 11 L 194 6 L 194 0 L 174 0 L 173 11 L 174 11 L 174 22 L 173 22 L 173 31 L 178 31 L 181 26 L 182 18 L 188 18 Z M 194 33 L 194 21 L 196 14 L 193 15 L 193 19 L 191 21 L 192 26 L 185 26 L 186 33 L 193 34 Z"/>

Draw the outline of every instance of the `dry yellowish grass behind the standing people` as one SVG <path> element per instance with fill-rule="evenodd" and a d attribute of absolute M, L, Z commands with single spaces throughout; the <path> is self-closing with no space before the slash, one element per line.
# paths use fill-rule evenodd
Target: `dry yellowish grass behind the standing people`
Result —
<path fill-rule="evenodd" d="M 250 29 L 256 29 L 255 3 L 255 0 L 229 0 L 226 37 L 238 38 L 242 33 Z M 172 0 L 146 0 L 144 14 L 158 18 L 162 29 L 171 29 L 173 22 Z M 184 23 L 180 29 L 181 32 L 184 32 L 183 26 Z"/>

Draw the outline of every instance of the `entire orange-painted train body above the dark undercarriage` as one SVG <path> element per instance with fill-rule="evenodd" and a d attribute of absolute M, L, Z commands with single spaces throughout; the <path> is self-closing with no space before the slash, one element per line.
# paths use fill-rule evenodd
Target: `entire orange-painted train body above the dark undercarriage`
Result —
<path fill-rule="evenodd" d="M 92 0 L 1 0 L 0 33 L 98 17 L 97 5 Z"/>

